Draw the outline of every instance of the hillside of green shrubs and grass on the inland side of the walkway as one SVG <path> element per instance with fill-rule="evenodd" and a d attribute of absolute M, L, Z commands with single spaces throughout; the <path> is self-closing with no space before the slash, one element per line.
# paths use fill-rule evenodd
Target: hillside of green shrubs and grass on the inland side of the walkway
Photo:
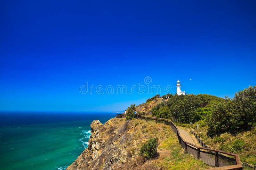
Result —
<path fill-rule="evenodd" d="M 172 95 L 150 109 L 152 115 L 171 119 L 196 130 L 207 145 L 238 153 L 241 160 L 256 164 L 256 86 L 250 86 L 225 99 L 211 95 Z M 149 109 L 149 107 L 147 107 Z"/>

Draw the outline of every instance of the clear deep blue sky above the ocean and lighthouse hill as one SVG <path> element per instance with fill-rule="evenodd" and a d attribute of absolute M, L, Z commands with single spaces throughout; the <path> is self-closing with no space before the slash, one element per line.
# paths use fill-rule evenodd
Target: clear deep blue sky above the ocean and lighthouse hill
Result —
<path fill-rule="evenodd" d="M 188 94 L 233 97 L 256 85 L 255 9 L 249 0 L 2 0 L 0 110 L 125 110 L 154 96 L 152 86 L 175 93 L 178 79 Z M 86 82 L 94 88 L 82 94 Z"/>

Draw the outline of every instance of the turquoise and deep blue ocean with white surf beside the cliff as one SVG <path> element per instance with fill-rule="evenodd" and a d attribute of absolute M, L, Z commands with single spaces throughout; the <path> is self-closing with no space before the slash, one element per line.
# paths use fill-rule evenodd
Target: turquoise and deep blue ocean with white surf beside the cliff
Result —
<path fill-rule="evenodd" d="M 66 169 L 88 146 L 93 120 L 113 112 L 1 112 L 1 169 Z"/>

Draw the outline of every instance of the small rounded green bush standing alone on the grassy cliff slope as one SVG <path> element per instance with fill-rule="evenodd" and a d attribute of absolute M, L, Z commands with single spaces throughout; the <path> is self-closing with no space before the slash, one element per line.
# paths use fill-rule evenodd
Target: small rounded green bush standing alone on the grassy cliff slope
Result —
<path fill-rule="evenodd" d="M 158 146 L 158 139 L 150 138 L 148 140 L 148 143 L 144 143 L 144 145 L 140 148 L 140 155 L 144 159 L 150 159 L 155 157 L 157 154 L 157 146 Z"/>

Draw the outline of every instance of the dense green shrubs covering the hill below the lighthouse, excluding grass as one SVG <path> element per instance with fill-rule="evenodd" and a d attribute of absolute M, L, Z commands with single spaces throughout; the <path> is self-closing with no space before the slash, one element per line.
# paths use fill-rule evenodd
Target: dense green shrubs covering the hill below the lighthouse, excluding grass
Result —
<path fill-rule="evenodd" d="M 166 96 L 169 100 L 153 107 L 152 115 L 179 123 L 204 120 L 211 137 L 256 126 L 256 86 L 237 92 L 233 99 L 202 94 Z"/>

